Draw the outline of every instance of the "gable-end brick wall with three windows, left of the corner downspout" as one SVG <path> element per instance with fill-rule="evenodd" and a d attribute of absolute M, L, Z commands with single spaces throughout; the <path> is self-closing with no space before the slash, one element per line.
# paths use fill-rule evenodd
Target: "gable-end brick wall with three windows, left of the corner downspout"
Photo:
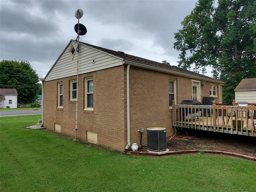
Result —
<path fill-rule="evenodd" d="M 86 139 L 86 131 L 98 134 L 98 144 L 124 150 L 126 146 L 126 117 L 124 103 L 124 66 L 108 68 L 79 75 L 78 85 L 78 138 Z M 94 83 L 94 110 L 84 110 L 84 79 L 92 77 Z M 44 82 L 44 127 L 75 136 L 76 102 L 70 101 L 70 80 L 76 76 Z M 58 82 L 63 82 L 63 110 L 57 108 Z"/>

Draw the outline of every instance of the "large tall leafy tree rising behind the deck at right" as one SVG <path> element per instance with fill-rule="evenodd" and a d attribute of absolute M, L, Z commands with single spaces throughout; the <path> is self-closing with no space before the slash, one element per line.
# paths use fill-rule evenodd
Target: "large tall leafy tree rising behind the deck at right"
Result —
<path fill-rule="evenodd" d="M 224 81 L 223 101 L 231 104 L 243 78 L 256 77 L 256 1 L 199 0 L 174 34 L 178 66 Z"/>

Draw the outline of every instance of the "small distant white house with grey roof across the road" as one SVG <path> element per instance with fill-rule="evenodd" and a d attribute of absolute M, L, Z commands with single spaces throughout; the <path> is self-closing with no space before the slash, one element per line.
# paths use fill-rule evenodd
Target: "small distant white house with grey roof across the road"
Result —
<path fill-rule="evenodd" d="M 16 89 L 0 88 L 0 108 L 17 108 L 18 92 Z"/>

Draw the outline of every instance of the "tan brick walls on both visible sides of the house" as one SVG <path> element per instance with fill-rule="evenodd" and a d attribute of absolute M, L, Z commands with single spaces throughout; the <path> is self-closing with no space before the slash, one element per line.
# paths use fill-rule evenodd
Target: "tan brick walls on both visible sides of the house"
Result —
<path fill-rule="evenodd" d="M 94 81 L 94 110 L 84 110 L 84 79 Z M 54 130 L 61 125 L 61 132 L 76 135 L 76 102 L 70 101 L 70 80 L 76 76 L 44 82 L 44 127 Z M 166 135 L 173 136 L 172 109 L 169 109 L 169 80 L 176 80 L 177 103 L 191 99 L 191 78 L 130 67 L 130 141 L 140 146 L 140 133 L 146 143 L 146 129 L 166 128 Z M 57 108 L 58 82 L 63 82 L 63 110 Z M 209 96 L 208 83 L 202 88 Z M 202 97 L 201 97 L 202 98 Z M 202 102 L 202 101 L 201 101 Z M 127 144 L 126 118 L 126 66 L 118 66 L 79 75 L 78 138 L 86 140 L 86 131 L 98 134 L 98 144 L 123 151 Z"/>

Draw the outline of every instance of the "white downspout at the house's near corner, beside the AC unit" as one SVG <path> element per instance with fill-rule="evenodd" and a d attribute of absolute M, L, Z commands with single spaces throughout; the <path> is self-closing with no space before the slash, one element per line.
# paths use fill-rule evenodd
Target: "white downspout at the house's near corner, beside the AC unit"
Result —
<path fill-rule="evenodd" d="M 126 68 L 126 112 L 127 112 L 127 145 L 124 150 L 130 147 L 130 65 Z"/>

